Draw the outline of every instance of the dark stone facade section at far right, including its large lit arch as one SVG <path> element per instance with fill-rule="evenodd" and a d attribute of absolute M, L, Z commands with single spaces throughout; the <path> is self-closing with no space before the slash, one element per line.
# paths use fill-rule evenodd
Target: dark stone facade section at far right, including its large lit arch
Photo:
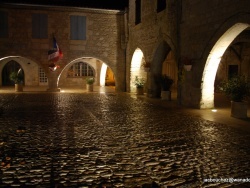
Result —
<path fill-rule="evenodd" d="M 193 59 L 182 88 L 184 104 L 213 107 L 215 80 L 228 78 L 229 65 L 250 77 L 249 15 L 247 0 L 182 2 L 180 51 Z"/>

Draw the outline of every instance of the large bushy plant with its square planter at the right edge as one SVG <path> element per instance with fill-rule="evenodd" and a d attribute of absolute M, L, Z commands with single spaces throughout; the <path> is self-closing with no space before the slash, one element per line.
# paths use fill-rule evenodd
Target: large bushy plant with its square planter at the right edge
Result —
<path fill-rule="evenodd" d="M 247 118 L 247 97 L 250 96 L 250 82 L 245 76 L 236 75 L 223 81 L 219 88 L 231 100 L 231 116 Z"/>

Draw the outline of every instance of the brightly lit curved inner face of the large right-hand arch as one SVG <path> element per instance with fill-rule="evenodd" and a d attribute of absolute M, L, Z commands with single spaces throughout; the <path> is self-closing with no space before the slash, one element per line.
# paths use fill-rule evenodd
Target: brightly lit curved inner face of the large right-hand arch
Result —
<path fill-rule="evenodd" d="M 219 38 L 212 48 L 202 75 L 201 109 L 214 107 L 214 82 L 221 57 L 232 41 L 248 27 L 249 25 L 244 23 L 235 24 Z"/>

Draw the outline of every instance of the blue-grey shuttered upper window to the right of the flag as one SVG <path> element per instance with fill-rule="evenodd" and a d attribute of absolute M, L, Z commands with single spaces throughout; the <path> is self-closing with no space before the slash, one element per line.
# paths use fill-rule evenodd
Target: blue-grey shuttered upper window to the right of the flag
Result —
<path fill-rule="evenodd" d="M 86 40 L 86 16 L 70 16 L 70 39 Z"/>

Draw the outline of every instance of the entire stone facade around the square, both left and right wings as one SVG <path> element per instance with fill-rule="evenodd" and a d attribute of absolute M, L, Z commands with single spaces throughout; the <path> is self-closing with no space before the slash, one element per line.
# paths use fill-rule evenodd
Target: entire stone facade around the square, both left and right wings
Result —
<path fill-rule="evenodd" d="M 39 85 L 41 67 L 49 89 L 79 86 L 83 80 L 68 75 L 75 63 L 87 63 L 97 80 L 105 64 L 117 91 L 134 92 L 139 76 L 146 80 L 147 96 L 160 97 L 157 78 L 167 74 L 180 104 L 213 108 L 221 80 L 233 73 L 250 77 L 248 0 L 129 0 L 123 11 L 1 5 L 0 11 L 8 13 L 9 24 L 8 37 L 0 38 L 0 71 L 7 62 L 18 62 L 26 85 Z M 48 15 L 46 39 L 32 38 L 35 13 Z M 85 40 L 71 40 L 71 15 L 86 17 Z M 64 54 L 55 72 L 49 71 L 47 59 L 52 34 Z"/>

